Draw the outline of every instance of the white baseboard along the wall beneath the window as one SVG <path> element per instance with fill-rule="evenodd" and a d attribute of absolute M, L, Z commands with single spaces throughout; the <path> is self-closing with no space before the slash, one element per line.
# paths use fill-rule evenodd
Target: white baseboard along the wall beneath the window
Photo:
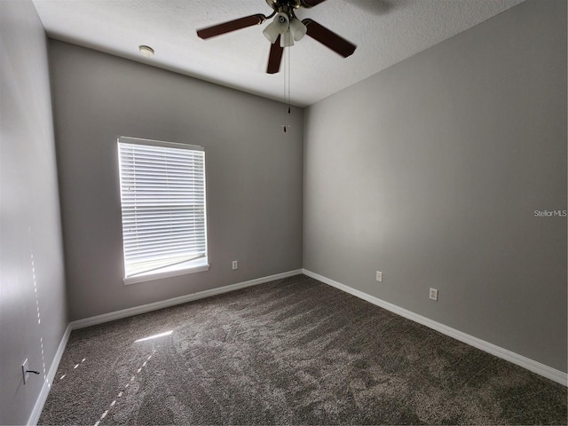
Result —
<path fill-rule="evenodd" d="M 192 293 L 190 295 L 174 297 L 172 299 L 163 300 L 161 302 L 154 302 L 154 304 L 142 304 L 140 306 L 135 306 L 133 308 L 122 309 L 121 311 L 104 313 L 102 315 L 97 315 L 95 317 L 77 319 L 69 323 L 69 327 L 72 330 L 84 327 L 91 327 L 97 324 L 102 324 L 108 321 L 114 321 L 114 319 L 122 319 L 131 317 L 133 315 L 138 315 L 140 313 L 152 312 L 162 308 L 168 308 L 176 304 L 185 304 L 187 302 L 192 302 L 193 300 L 202 299 L 204 297 L 217 296 L 222 293 L 227 293 L 229 291 L 238 290 L 241 288 L 256 286 L 258 284 L 264 284 L 264 282 L 270 282 L 273 280 L 281 280 L 283 278 L 288 278 L 294 275 L 299 275 L 302 273 L 301 269 L 296 269 L 295 271 L 288 271 L 277 273 L 275 275 L 269 275 L 267 277 L 257 278 L 256 280 L 248 280 L 239 282 L 237 284 L 231 284 L 229 286 L 212 288 L 210 290 L 199 291 L 197 293 Z"/>

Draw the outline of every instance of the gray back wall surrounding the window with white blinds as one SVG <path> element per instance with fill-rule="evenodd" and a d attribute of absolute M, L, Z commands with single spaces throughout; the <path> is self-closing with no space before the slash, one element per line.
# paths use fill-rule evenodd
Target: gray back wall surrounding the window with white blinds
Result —
<path fill-rule="evenodd" d="M 301 110 L 284 133 L 278 102 L 72 44 L 50 48 L 72 320 L 302 267 Z M 122 283 L 117 136 L 205 146 L 208 272 Z"/>

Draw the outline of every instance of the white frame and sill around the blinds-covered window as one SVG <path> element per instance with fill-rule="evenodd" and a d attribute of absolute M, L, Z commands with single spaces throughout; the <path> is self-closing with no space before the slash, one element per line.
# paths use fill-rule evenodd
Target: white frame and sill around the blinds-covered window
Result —
<path fill-rule="evenodd" d="M 207 181 L 206 181 L 206 161 L 205 161 L 205 148 L 203 146 L 196 146 L 190 144 L 182 144 L 177 142 L 166 142 L 162 140 L 146 139 L 146 138 L 131 138 L 126 136 L 120 136 L 116 138 L 116 146 L 118 153 L 118 169 L 119 169 L 119 193 L 120 193 L 120 205 L 121 205 L 121 230 L 122 230 L 122 266 L 123 266 L 123 278 L 122 281 L 125 285 L 135 284 L 138 282 L 145 282 L 151 280 L 162 280 L 164 278 L 175 277 L 179 275 L 185 275 L 195 272 L 209 271 L 209 244 L 208 244 L 208 222 L 207 222 Z M 203 230 L 205 237 L 205 249 L 204 256 L 182 262 L 180 264 L 170 264 L 162 266 L 158 269 L 138 272 L 135 275 L 127 276 L 126 268 L 126 247 L 124 245 L 124 223 L 123 223 L 123 209 L 122 209 L 122 160 L 121 160 L 121 143 L 130 145 L 141 145 L 141 146 L 158 146 L 165 148 L 177 148 L 185 149 L 190 151 L 201 151 L 203 153 Z"/>

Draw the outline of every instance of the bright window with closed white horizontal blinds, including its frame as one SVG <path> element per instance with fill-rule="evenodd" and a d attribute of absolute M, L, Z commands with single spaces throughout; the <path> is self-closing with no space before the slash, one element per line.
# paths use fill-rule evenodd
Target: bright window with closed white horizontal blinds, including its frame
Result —
<path fill-rule="evenodd" d="M 125 284 L 209 269 L 201 146 L 118 138 Z"/>

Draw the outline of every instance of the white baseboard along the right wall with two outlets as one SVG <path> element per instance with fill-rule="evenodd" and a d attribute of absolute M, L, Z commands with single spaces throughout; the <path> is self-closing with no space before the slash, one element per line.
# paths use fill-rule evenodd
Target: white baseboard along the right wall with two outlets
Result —
<path fill-rule="evenodd" d="M 419 324 L 422 324 L 423 326 L 430 327 L 444 335 L 453 337 L 454 339 L 459 340 L 460 342 L 467 343 L 470 346 L 480 349 L 481 351 L 491 353 L 496 357 L 505 359 L 509 362 L 512 362 L 513 364 L 517 364 L 517 366 L 526 368 L 527 370 L 532 371 L 537 375 L 542 375 L 543 377 L 553 380 L 556 383 L 564 384 L 564 386 L 568 385 L 568 375 L 560 370 L 556 370 L 556 368 L 545 366 L 544 364 L 541 364 L 538 361 L 526 358 L 522 355 L 519 355 L 518 353 L 501 348 L 496 344 L 485 342 L 485 340 L 481 340 L 473 335 L 468 335 L 467 333 L 463 333 L 460 330 L 456 330 L 455 328 L 447 327 L 440 322 L 434 321 L 426 317 L 422 317 L 422 315 L 408 311 L 404 308 L 397 306 L 396 304 L 390 304 L 389 302 L 385 302 L 384 300 L 381 300 L 375 296 L 368 295 L 367 293 L 346 286 L 340 282 L 330 280 L 322 275 L 319 275 L 318 273 L 311 272 L 306 269 L 303 270 L 303 273 L 309 277 L 312 277 L 315 280 L 319 280 L 332 287 L 343 290 L 344 292 L 349 293 L 353 296 L 357 296 L 360 299 L 366 300 L 371 304 L 380 306 L 386 309 L 387 311 L 394 312 L 400 315 L 401 317 L 405 317 L 406 319 L 411 319 L 415 322 L 418 322 Z"/>

